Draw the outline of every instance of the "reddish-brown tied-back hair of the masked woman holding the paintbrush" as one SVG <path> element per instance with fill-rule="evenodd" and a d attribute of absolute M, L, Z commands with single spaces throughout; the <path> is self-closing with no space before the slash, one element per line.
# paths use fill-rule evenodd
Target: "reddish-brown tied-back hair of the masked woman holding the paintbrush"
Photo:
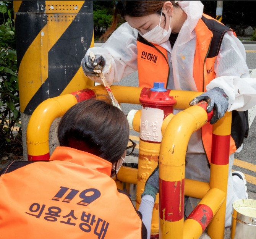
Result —
<path fill-rule="evenodd" d="M 110 34 L 115 31 L 117 27 L 117 23 L 120 19 L 118 19 L 118 14 L 122 18 L 125 18 L 125 16 L 130 17 L 143 17 L 151 14 L 158 14 L 161 15 L 161 10 L 166 1 L 118 1 L 115 6 L 115 11 L 112 18 L 112 24 L 107 29 L 107 31 L 100 37 L 100 39 L 103 38 L 103 40 L 107 40 L 107 38 L 110 36 Z M 173 7 L 180 7 L 178 3 L 175 3 L 175 1 L 170 1 L 173 5 Z M 166 19 L 165 15 L 163 14 L 164 18 Z"/>

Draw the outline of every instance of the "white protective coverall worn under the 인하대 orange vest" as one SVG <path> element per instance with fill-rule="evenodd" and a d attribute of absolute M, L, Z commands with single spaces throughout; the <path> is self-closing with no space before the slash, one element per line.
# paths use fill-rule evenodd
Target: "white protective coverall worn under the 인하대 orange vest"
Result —
<path fill-rule="evenodd" d="M 178 3 L 185 11 L 187 19 L 180 29 L 177 40 L 171 48 L 170 42 L 161 44 L 168 52 L 170 76 L 167 89 L 197 91 L 193 79 L 193 60 L 195 52 L 196 34 L 194 28 L 202 17 L 203 4 L 200 1 L 181 1 Z M 130 27 L 128 23 L 122 24 L 113 32 L 102 47 L 89 48 L 89 52 L 102 55 L 106 65 L 103 74 L 109 85 L 118 82 L 125 76 L 138 69 L 137 66 L 137 36 L 138 30 Z M 186 56 L 181 60 L 182 56 Z M 179 64 L 179 62 L 183 62 Z M 184 62 L 185 61 L 185 62 Z M 186 68 L 181 68 L 181 65 Z M 256 105 L 256 79 L 250 78 L 249 70 L 245 62 L 245 48 L 240 40 L 228 31 L 225 33 L 220 47 L 219 55 L 214 64 L 216 78 L 206 89 L 219 87 L 228 95 L 228 110 L 245 111 Z M 97 76 L 92 80 L 101 83 Z M 192 100 L 192 99 L 191 99 Z M 174 114 L 178 110 L 174 111 Z M 242 146 L 237 150 L 240 152 Z M 230 155 L 227 210 L 225 226 L 230 226 L 232 203 L 235 200 L 245 198 L 245 187 L 242 180 L 233 180 L 231 168 L 234 155 Z M 186 154 L 186 178 L 209 182 L 210 170 L 204 153 L 201 140 L 201 131 L 193 133 Z M 236 176 L 237 177 L 237 176 Z M 189 198 L 185 206 L 185 215 L 188 216 L 200 200 Z"/>

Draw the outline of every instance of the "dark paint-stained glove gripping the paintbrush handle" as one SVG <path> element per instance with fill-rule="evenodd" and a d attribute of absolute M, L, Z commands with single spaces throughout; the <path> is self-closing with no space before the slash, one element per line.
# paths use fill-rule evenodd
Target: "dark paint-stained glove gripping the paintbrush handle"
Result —
<path fill-rule="evenodd" d="M 81 65 L 86 76 L 95 76 L 102 71 L 103 67 L 106 65 L 106 61 L 101 55 L 95 55 L 93 61 L 89 55 L 85 55 L 81 61 Z"/>

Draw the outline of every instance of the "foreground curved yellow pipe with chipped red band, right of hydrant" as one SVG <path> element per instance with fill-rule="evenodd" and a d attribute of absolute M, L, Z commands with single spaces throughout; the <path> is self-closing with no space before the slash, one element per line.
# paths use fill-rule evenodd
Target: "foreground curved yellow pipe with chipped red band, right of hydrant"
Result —
<path fill-rule="evenodd" d="M 195 105 L 175 115 L 165 129 L 159 155 L 161 239 L 183 239 L 186 149 L 191 134 L 206 123 L 206 110 Z"/>

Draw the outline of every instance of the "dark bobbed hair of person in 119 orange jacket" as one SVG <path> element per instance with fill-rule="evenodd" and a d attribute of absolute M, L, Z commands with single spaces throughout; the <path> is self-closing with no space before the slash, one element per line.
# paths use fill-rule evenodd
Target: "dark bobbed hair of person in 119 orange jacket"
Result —
<path fill-rule="evenodd" d="M 76 103 L 63 115 L 58 126 L 60 146 L 92 153 L 112 163 L 123 155 L 128 139 L 125 114 L 104 100 Z"/>

